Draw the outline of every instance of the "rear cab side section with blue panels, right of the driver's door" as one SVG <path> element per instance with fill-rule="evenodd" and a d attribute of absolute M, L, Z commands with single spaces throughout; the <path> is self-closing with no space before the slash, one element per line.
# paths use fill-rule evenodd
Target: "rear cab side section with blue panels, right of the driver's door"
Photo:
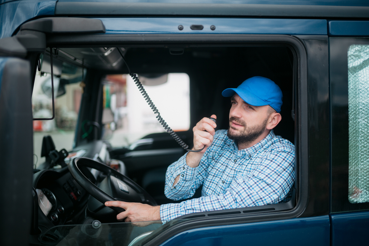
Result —
<path fill-rule="evenodd" d="M 369 229 L 369 22 L 330 22 L 332 245 Z M 339 37 L 341 36 L 341 37 Z M 346 37 L 344 37 L 346 36 Z M 355 37 L 347 37 L 355 36 Z"/>

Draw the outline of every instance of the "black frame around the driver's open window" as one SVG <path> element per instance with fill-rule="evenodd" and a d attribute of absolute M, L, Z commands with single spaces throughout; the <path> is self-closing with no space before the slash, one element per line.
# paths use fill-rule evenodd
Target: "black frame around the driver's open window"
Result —
<path fill-rule="evenodd" d="M 170 41 L 168 41 L 170 40 Z M 304 213 L 308 201 L 308 80 L 307 51 L 301 40 L 290 35 L 255 34 L 104 34 L 104 35 L 51 35 L 47 45 L 53 47 L 164 47 L 189 46 L 287 46 L 294 56 L 294 105 L 295 105 L 295 187 L 296 205 L 287 211 L 255 212 L 197 218 L 163 228 L 160 236 L 146 245 L 159 245 L 165 240 L 189 229 L 242 224 L 249 222 L 292 219 Z M 101 93 L 100 93 L 101 94 Z M 82 105 L 81 105 L 82 108 Z M 190 105 L 191 108 L 191 105 Z M 191 117 L 193 118 L 193 117 Z M 228 209 L 229 210 L 229 209 Z M 240 209 L 245 210 L 245 209 Z"/>

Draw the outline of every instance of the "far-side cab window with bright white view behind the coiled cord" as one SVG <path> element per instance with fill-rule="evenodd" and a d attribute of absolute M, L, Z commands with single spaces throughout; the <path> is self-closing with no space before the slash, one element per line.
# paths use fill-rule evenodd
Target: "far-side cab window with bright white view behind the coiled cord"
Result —
<path fill-rule="evenodd" d="M 138 77 L 169 127 L 175 132 L 189 130 L 189 76 L 168 73 Z M 166 132 L 131 76 L 107 75 L 102 83 L 103 139 L 113 147 L 128 146 L 148 134 Z"/>

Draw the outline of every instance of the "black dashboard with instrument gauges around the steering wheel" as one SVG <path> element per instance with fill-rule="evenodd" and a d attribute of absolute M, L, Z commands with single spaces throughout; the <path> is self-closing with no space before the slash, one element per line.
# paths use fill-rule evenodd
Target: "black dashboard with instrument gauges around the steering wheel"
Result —
<path fill-rule="evenodd" d="M 65 158 L 65 163 L 69 164 L 74 157 L 79 156 L 108 163 L 126 174 L 124 163 L 110 159 L 107 145 L 103 141 L 93 141 L 73 149 Z M 86 167 L 80 170 L 93 184 L 97 184 L 97 170 Z M 85 219 L 90 195 L 74 180 L 68 166 L 35 172 L 32 185 L 37 193 L 34 199 L 37 199 L 38 224 L 42 231 L 57 225 L 80 224 Z"/>

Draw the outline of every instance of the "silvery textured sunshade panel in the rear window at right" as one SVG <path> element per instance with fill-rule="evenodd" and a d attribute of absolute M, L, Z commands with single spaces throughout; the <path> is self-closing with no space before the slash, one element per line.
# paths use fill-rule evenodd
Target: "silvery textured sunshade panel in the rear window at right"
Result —
<path fill-rule="evenodd" d="M 348 48 L 349 201 L 369 202 L 369 45 Z"/>

